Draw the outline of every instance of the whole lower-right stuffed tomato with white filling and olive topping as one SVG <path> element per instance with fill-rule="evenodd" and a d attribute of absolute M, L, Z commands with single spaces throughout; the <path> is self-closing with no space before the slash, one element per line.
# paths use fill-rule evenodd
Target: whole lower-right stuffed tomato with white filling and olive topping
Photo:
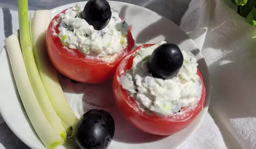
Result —
<path fill-rule="evenodd" d="M 132 50 L 113 77 L 113 95 L 122 115 L 138 129 L 172 135 L 201 112 L 205 97 L 197 59 L 161 41 Z"/>

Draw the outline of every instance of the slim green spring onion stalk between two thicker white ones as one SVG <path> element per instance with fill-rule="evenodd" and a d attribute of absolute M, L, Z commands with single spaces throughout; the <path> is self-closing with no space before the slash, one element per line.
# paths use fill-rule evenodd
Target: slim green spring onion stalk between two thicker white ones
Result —
<path fill-rule="evenodd" d="M 20 46 L 23 54 L 23 60 L 26 66 L 26 70 L 29 76 L 30 83 L 35 92 L 35 96 L 40 104 L 45 117 L 52 125 L 53 129 L 63 138 L 65 141 L 66 131 L 62 126 L 61 119 L 55 112 L 52 103 L 49 100 L 47 92 L 44 88 L 38 69 L 35 64 L 35 59 L 32 51 L 32 43 L 29 32 L 29 20 L 28 20 L 28 2 L 27 0 L 18 0 L 18 14 L 19 14 L 19 27 L 20 27 Z M 40 117 L 38 117 L 39 119 Z"/>

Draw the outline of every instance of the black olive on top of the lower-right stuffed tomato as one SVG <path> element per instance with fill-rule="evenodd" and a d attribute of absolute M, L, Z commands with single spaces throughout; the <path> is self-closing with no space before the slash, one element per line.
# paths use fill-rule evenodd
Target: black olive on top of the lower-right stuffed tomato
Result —
<path fill-rule="evenodd" d="M 154 77 L 171 79 L 179 72 L 183 64 L 180 48 L 173 43 L 165 43 L 157 47 L 148 60 L 149 72 Z"/>

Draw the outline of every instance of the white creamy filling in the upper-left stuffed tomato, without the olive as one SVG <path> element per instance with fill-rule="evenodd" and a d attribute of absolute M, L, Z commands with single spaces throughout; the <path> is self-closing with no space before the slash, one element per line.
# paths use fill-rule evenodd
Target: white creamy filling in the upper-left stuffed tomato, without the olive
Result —
<path fill-rule="evenodd" d="M 82 18 L 82 8 L 76 4 L 59 14 L 58 37 L 64 46 L 78 49 L 86 57 L 113 60 L 127 46 L 128 24 L 119 18 L 116 9 L 111 13 L 108 25 L 97 31 Z"/>

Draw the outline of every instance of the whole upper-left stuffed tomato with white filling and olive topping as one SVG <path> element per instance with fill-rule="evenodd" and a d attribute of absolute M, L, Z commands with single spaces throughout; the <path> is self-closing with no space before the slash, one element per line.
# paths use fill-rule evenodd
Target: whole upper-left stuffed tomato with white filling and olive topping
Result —
<path fill-rule="evenodd" d="M 131 51 L 134 39 L 126 20 L 108 2 L 76 4 L 53 17 L 47 29 L 47 52 L 53 66 L 70 79 L 101 83 Z"/>

